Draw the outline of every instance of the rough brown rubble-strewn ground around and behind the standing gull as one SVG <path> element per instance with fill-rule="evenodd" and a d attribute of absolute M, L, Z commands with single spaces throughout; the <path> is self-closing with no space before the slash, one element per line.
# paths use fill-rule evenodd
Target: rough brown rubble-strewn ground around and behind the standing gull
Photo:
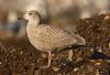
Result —
<path fill-rule="evenodd" d="M 52 66 L 47 69 L 38 69 L 47 63 L 46 53 L 36 51 L 28 39 L 1 40 L 0 75 L 110 75 L 109 14 L 81 19 L 76 23 L 76 33 L 84 36 L 87 44 L 99 46 L 101 49 L 99 53 L 95 54 L 91 47 L 76 49 L 73 51 L 72 63 L 63 62 L 67 57 L 67 51 L 55 53 Z"/>

